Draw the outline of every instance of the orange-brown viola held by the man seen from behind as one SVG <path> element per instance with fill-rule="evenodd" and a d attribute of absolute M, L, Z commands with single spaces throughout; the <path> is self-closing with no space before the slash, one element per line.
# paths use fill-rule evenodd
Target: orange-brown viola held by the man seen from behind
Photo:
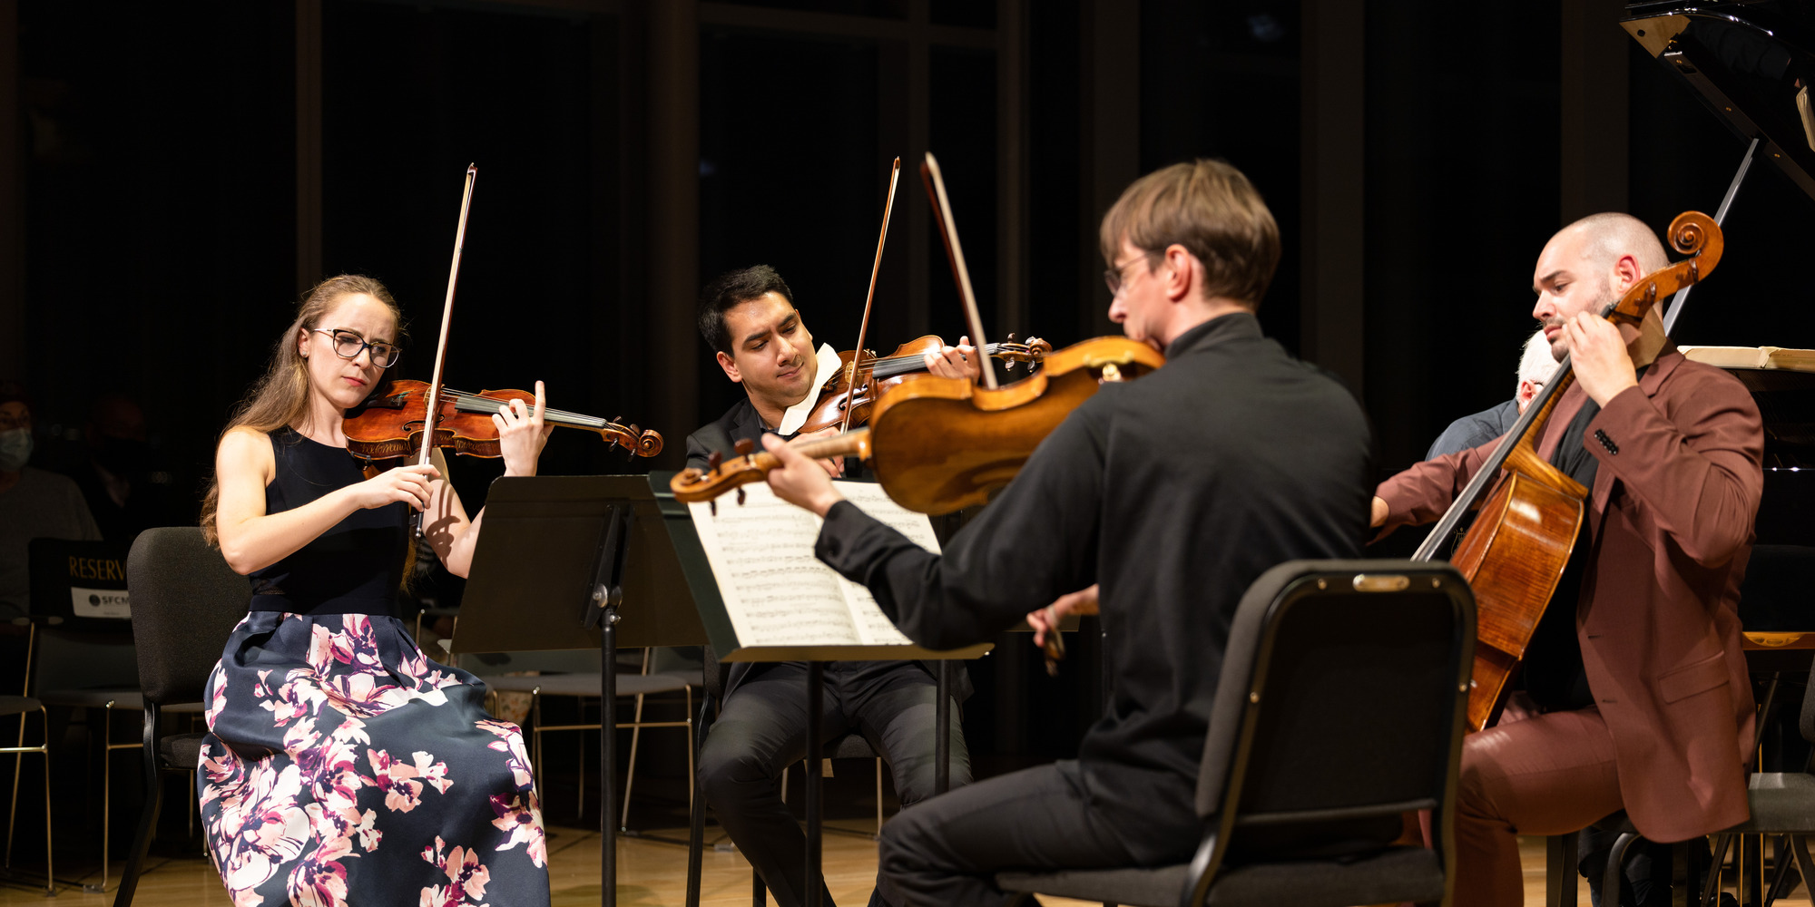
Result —
<path fill-rule="evenodd" d="M 920 513 L 951 513 L 989 499 L 1020 472 L 1033 448 L 1104 383 L 1129 381 L 1165 365 L 1145 343 L 1096 337 L 1045 356 L 1045 368 L 986 388 L 960 377 L 906 375 L 882 395 L 869 426 L 831 437 L 800 437 L 811 459 L 858 457 L 895 502 Z M 762 481 L 780 461 L 744 439 L 739 455 L 670 481 L 675 501 L 701 502 Z M 742 495 L 742 492 L 739 492 Z"/>

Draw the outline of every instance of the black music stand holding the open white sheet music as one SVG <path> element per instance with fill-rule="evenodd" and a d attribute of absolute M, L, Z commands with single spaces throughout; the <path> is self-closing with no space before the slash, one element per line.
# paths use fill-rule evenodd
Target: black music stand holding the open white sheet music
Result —
<path fill-rule="evenodd" d="M 693 604 L 699 608 L 701 626 L 711 637 L 711 648 L 724 662 L 808 662 L 806 671 L 806 903 L 819 907 L 824 894 L 824 873 L 820 871 L 820 771 L 822 760 L 815 758 L 819 747 L 819 715 L 824 698 L 826 662 L 893 662 L 893 660 L 931 660 L 938 662 L 938 689 L 949 689 L 949 662 L 976 658 L 993 646 L 987 642 L 951 651 L 924 649 L 920 646 L 744 646 L 731 628 L 731 619 L 724 610 L 724 597 L 719 593 L 719 580 L 706 559 L 706 550 L 693 530 L 692 510 L 675 501 L 668 483 L 673 472 L 652 472 L 650 490 L 661 506 L 668 535 L 673 541 L 673 553 L 682 566 L 682 575 L 693 591 Z M 737 504 L 724 504 L 737 506 Z M 490 517 L 486 517 L 490 519 Z M 470 591 L 468 591 L 470 595 Z M 951 785 L 951 697 L 940 695 L 935 706 L 933 722 L 937 762 L 933 793 L 940 795 Z M 702 809 L 695 796 L 693 809 Z M 699 825 L 697 822 L 693 824 Z M 688 878 L 697 880 L 699 873 L 692 862 L 699 860 L 699 842 L 688 847 Z M 690 882 L 692 885 L 692 882 Z M 699 903 L 699 891 L 688 891 L 688 903 Z"/>

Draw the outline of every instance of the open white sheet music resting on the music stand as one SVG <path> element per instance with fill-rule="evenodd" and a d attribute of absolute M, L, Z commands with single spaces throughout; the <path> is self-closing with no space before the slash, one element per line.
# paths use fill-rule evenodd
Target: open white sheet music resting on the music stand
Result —
<path fill-rule="evenodd" d="M 889 501 L 871 483 L 839 483 L 864 512 L 938 551 L 933 524 Z M 908 646 L 862 584 L 813 557 L 824 521 L 775 497 L 766 484 L 744 486 L 744 504 L 688 504 L 701 548 L 719 582 L 726 615 L 742 646 Z"/>

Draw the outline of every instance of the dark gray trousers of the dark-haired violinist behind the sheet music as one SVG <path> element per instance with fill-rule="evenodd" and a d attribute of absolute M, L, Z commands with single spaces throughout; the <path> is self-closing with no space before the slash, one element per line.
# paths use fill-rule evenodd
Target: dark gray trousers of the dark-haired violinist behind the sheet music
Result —
<path fill-rule="evenodd" d="M 831 662 L 820 744 L 862 733 L 889 764 L 902 807 L 924 800 L 933 795 L 937 769 L 935 691 L 933 677 L 913 662 Z M 784 662 L 755 668 L 731 689 L 699 758 L 706 802 L 780 907 L 806 903 L 806 834 L 780 796 L 782 769 L 804 756 L 806 666 Z M 969 782 L 971 756 L 953 707 L 951 787 Z M 886 827 L 895 822 L 900 818 Z M 829 894 L 824 903 L 831 907 Z"/>

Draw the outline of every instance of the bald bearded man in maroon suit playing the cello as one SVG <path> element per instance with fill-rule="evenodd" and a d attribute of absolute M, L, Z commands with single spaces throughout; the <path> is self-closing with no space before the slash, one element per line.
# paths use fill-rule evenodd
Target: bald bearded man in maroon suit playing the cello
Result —
<path fill-rule="evenodd" d="M 1753 702 L 1737 602 L 1764 481 L 1759 410 L 1739 379 L 1677 352 L 1659 308 L 1639 325 L 1599 316 L 1666 265 L 1626 214 L 1575 221 L 1537 258 L 1532 316 L 1575 368 L 1537 454 L 1590 493 L 1525 655 L 1539 713 L 1463 744 L 1457 903 L 1525 903 L 1516 834 L 1624 809 L 1644 838 L 1679 842 L 1746 818 Z M 1437 519 L 1492 450 L 1394 475 L 1374 524 Z"/>

